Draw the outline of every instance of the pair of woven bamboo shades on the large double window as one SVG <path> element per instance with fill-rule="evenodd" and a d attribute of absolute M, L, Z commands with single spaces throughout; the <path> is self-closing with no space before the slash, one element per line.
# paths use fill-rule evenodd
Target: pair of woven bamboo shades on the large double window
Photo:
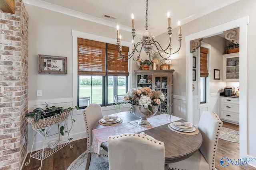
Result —
<path fill-rule="evenodd" d="M 129 48 L 123 47 L 122 49 L 122 53 L 128 55 Z M 129 75 L 128 60 L 120 57 L 118 46 L 78 38 L 78 76 L 105 76 L 106 71 L 112 76 Z"/>

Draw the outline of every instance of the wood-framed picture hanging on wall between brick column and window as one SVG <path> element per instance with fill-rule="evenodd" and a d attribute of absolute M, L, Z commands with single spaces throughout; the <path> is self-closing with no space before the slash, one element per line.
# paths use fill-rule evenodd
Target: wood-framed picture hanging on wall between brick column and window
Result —
<path fill-rule="evenodd" d="M 39 54 L 38 74 L 67 74 L 67 57 Z"/>

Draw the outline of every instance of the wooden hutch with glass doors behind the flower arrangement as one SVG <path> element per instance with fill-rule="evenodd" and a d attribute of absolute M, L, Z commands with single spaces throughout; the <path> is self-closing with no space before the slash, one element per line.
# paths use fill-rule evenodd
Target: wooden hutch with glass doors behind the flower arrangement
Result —
<path fill-rule="evenodd" d="M 150 87 L 152 90 L 161 90 L 166 96 L 164 101 L 173 113 L 173 92 L 172 92 L 172 76 L 174 70 L 135 70 L 136 87 Z M 165 106 L 158 108 L 159 112 L 166 112 Z"/>

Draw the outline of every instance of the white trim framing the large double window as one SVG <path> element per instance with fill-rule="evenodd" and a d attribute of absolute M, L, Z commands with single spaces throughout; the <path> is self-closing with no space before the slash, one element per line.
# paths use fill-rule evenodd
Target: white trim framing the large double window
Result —
<path fill-rule="evenodd" d="M 112 44 L 116 44 L 116 39 L 112 39 L 112 38 L 108 38 L 108 37 L 102 37 L 99 35 L 94 35 L 94 34 L 90 34 L 90 33 L 84 33 L 81 31 L 76 31 L 76 30 L 72 30 L 72 37 L 73 37 L 73 106 L 77 105 L 77 95 L 78 95 L 78 76 L 77 76 L 77 38 L 84 38 L 84 39 L 91 39 L 94 41 L 104 41 L 106 43 L 112 43 Z M 123 41 L 122 40 L 122 44 L 124 46 L 129 47 L 130 51 L 129 53 L 131 53 L 131 49 L 132 49 L 132 43 L 127 42 L 127 41 Z M 72 62 L 69 61 L 68 58 L 68 62 Z M 132 70 L 132 64 L 130 64 L 130 61 L 128 61 L 128 67 L 129 67 L 129 72 L 130 70 Z M 72 68 L 68 68 L 68 70 L 72 70 Z M 128 89 L 130 89 L 130 87 L 132 86 L 132 74 L 129 75 L 128 77 Z M 112 106 L 106 106 L 106 107 L 111 107 Z M 82 114 L 82 110 L 80 109 L 78 111 L 73 110 L 73 114 L 77 115 L 77 114 Z M 105 109 L 104 109 L 105 110 Z"/>

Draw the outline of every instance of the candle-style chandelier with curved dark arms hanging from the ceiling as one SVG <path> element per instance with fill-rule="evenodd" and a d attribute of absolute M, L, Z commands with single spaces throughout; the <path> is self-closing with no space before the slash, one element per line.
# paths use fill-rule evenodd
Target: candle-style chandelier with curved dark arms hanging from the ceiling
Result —
<path fill-rule="evenodd" d="M 124 55 L 122 54 L 122 36 L 119 35 L 119 26 L 117 25 L 117 45 L 118 45 L 118 52 L 122 59 L 133 59 L 134 61 L 137 61 L 140 57 L 140 53 L 142 49 L 146 52 L 146 55 L 149 56 L 149 61 L 151 61 L 151 53 L 153 51 L 157 51 L 159 53 L 159 56 L 161 56 L 163 59 L 168 59 L 170 55 L 177 53 L 180 50 L 181 43 L 179 49 L 171 53 L 172 44 L 171 44 L 171 36 L 172 36 L 172 27 L 171 27 L 171 18 L 170 18 L 170 12 L 167 13 L 167 20 L 168 20 L 168 36 L 169 36 L 169 45 L 166 49 L 163 49 L 161 45 L 155 41 L 155 36 L 148 31 L 148 0 L 146 0 L 146 31 L 143 33 L 142 37 L 140 37 L 140 41 L 135 45 L 134 37 L 135 35 L 135 26 L 134 26 L 134 15 L 132 14 L 132 53 L 130 55 Z M 181 26 L 180 21 L 178 21 L 178 41 L 182 41 L 181 39 Z M 152 48 L 156 47 L 154 50 Z M 134 59 L 134 53 L 138 52 L 139 55 Z M 167 57 L 164 57 L 164 55 L 167 54 Z"/>

